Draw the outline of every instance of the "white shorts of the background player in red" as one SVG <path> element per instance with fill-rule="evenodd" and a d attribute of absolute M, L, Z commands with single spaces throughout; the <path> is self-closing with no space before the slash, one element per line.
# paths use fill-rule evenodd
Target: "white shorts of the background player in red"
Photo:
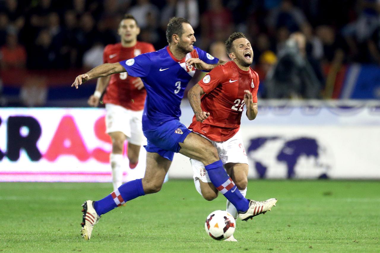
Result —
<path fill-rule="evenodd" d="M 122 132 L 131 144 L 141 146 L 142 110 L 132 111 L 116 104 L 106 104 L 106 133 Z"/>

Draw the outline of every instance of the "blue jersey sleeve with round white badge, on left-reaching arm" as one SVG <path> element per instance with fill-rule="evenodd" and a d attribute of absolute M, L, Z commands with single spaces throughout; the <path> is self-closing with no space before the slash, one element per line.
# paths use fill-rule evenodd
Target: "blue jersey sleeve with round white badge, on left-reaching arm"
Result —
<path fill-rule="evenodd" d="M 120 64 L 128 72 L 129 76 L 146 77 L 149 74 L 152 61 L 147 54 L 140 54 L 135 58 L 123 60 Z"/>

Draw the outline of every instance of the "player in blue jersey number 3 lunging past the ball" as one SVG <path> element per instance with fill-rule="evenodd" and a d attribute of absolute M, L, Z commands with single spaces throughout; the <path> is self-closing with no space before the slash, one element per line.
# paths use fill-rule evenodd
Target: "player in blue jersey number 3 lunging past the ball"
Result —
<path fill-rule="evenodd" d="M 74 86 L 98 77 L 127 72 L 140 77 L 147 91 L 142 130 L 147 138 L 145 149 L 146 171 L 144 178 L 121 185 L 116 191 L 99 201 L 87 200 L 83 206 L 82 236 L 89 240 L 93 225 L 100 215 L 123 203 L 161 189 L 174 152 L 201 161 L 211 182 L 236 207 L 239 217 L 248 220 L 274 206 L 271 201 L 250 201 L 236 191 L 236 186 L 223 168 L 214 145 L 207 139 L 192 133 L 179 122 L 180 102 L 185 88 L 198 70 L 211 71 L 220 62 L 205 51 L 193 46 L 194 30 L 180 17 L 170 19 L 166 29 L 168 46 L 156 52 L 141 54 L 119 63 L 105 63 L 76 77 Z M 203 112 L 206 115 L 206 112 Z"/>

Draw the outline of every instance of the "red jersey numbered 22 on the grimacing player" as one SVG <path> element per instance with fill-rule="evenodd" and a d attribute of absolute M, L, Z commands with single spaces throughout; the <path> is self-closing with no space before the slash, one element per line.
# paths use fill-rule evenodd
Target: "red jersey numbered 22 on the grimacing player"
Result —
<path fill-rule="evenodd" d="M 216 66 L 198 84 L 206 93 L 201 98 L 201 108 L 210 116 L 202 123 L 194 115 L 189 128 L 212 141 L 230 139 L 240 128 L 244 90 L 250 90 L 253 103 L 257 103 L 258 74 L 251 68 L 243 71 L 230 61 Z"/>

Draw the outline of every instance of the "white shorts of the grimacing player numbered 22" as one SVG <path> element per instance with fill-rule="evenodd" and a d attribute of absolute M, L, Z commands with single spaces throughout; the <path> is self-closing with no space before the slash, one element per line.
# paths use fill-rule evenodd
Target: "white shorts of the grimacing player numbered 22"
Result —
<path fill-rule="evenodd" d="M 198 134 L 198 133 L 196 133 Z M 200 136 L 206 138 L 202 134 Z M 206 138 L 211 141 L 210 139 Z M 220 160 L 223 164 L 226 163 L 246 163 L 248 164 L 248 157 L 245 153 L 243 141 L 241 138 L 240 130 L 227 141 L 211 141 L 216 147 Z M 207 174 L 204 164 L 198 160 L 190 159 L 193 168 L 193 179 L 201 180 L 204 183 L 210 183 L 211 180 Z"/>

